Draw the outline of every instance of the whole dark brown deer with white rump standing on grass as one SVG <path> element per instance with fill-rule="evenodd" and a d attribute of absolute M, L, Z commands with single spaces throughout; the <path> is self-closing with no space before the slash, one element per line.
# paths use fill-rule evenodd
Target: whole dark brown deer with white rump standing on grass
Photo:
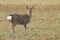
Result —
<path fill-rule="evenodd" d="M 7 20 L 11 22 L 12 24 L 12 32 L 15 32 L 15 27 L 17 24 L 24 25 L 24 29 L 26 31 L 27 24 L 30 22 L 30 19 L 32 17 L 32 10 L 34 8 L 34 5 L 32 7 L 26 6 L 26 9 L 28 10 L 29 14 L 10 14 L 7 16 Z"/>

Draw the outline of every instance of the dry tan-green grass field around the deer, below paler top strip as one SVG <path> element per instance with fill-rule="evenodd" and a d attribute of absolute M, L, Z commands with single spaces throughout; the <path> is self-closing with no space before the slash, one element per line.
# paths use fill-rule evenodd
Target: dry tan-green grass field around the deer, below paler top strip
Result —
<path fill-rule="evenodd" d="M 11 24 L 6 17 L 12 13 L 27 14 L 25 7 L 25 4 L 0 4 L 0 40 L 60 40 L 60 5 L 35 4 L 26 35 L 23 25 L 17 25 L 16 37 L 13 38 Z"/>

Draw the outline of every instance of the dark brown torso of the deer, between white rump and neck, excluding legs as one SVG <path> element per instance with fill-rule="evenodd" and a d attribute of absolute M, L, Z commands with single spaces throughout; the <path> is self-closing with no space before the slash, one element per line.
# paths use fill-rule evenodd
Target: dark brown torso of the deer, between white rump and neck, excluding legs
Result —
<path fill-rule="evenodd" d="M 30 22 L 29 15 L 19 15 L 19 14 L 13 14 L 12 22 L 18 23 L 18 24 L 24 24 Z"/>

